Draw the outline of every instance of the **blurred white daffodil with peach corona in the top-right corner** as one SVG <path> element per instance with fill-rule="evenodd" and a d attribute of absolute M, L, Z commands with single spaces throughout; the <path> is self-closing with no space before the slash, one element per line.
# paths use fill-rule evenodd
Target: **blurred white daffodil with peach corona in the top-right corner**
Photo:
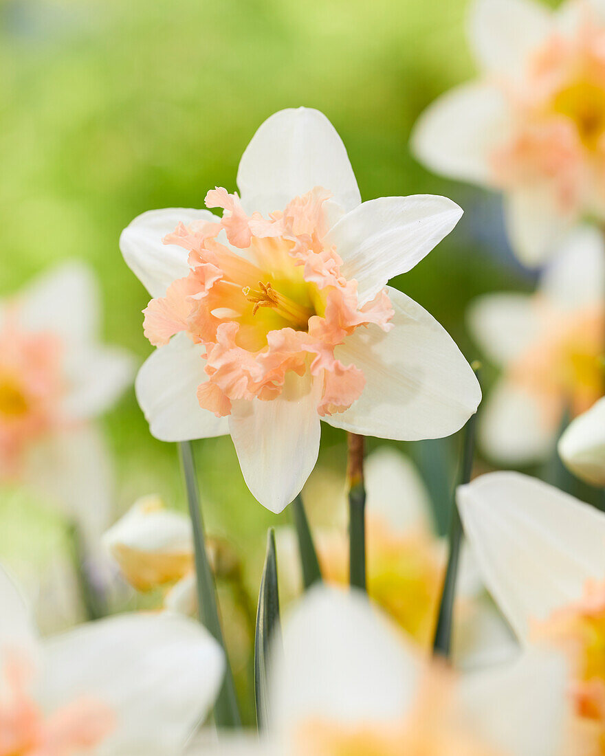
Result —
<path fill-rule="evenodd" d="M 476 0 L 469 36 L 479 76 L 420 116 L 414 151 L 502 191 L 513 248 L 538 265 L 582 217 L 605 219 L 605 8 Z"/>

